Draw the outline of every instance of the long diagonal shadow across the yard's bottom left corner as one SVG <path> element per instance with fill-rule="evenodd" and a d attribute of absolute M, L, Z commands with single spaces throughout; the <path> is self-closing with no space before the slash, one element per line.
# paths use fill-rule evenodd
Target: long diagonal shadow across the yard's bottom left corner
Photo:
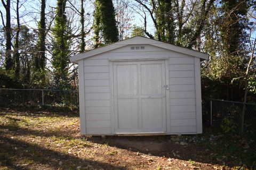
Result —
<path fill-rule="evenodd" d="M 11 169 L 26 169 L 29 161 L 33 162 L 33 164 L 36 163 L 33 169 L 43 169 L 42 165 L 54 169 L 70 169 L 71 167 L 75 169 L 77 166 L 97 169 L 121 169 L 118 166 L 104 164 L 94 160 L 80 159 L 62 152 L 46 149 L 36 144 L 3 137 L 3 135 L 0 135 L 0 144 L 0 160 L 2 165 Z M 13 162 L 15 158 L 20 159 L 21 157 L 26 160 L 26 165 L 19 165 Z M 60 160 L 63 163 L 62 165 L 59 165 Z M 124 168 L 122 167 L 122 169 Z"/>

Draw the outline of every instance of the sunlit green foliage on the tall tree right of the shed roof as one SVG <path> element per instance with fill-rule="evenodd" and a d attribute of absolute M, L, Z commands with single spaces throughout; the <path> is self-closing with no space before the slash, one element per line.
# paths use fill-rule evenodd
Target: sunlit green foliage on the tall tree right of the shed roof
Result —
<path fill-rule="evenodd" d="M 221 1 L 213 8 L 206 32 L 206 52 L 211 54 L 209 74 L 228 86 L 246 71 L 245 1 Z M 221 42 L 221 43 L 220 43 Z"/>

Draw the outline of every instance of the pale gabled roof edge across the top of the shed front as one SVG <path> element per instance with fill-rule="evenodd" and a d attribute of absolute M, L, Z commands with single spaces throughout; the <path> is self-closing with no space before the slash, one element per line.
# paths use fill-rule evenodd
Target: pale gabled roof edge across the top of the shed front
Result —
<path fill-rule="evenodd" d="M 127 45 L 139 45 L 139 44 L 148 44 L 148 45 L 152 45 L 152 46 L 156 46 L 156 47 L 161 47 L 161 48 L 165 48 L 165 49 L 169 49 L 172 50 L 174 52 L 179 52 L 182 54 L 187 54 L 187 55 L 191 55 L 194 57 L 198 57 L 198 58 L 202 58 L 204 60 L 207 59 L 208 55 L 202 52 L 198 52 L 196 50 L 193 49 L 188 49 L 185 47 L 179 47 L 179 46 L 175 46 L 172 44 L 168 44 L 168 43 L 164 43 L 162 41 L 158 41 L 158 40 L 154 40 L 154 39 L 150 39 L 150 38 L 146 38 L 146 37 L 142 37 L 142 36 L 135 36 L 129 39 L 125 39 L 122 41 L 118 41 L 117 43 L 113 43 L 113 44 L 109 44 L 106 46 L 102 46 L 99 48 L 95 48 L 74 56 L 70 57 L 70 62 L 74 62 L 77 63 L 77 61 L 82 60 L 84 58 L 87 57 L 91 57 L 97 54 L 101 54 L 101 53 L 105 53 L 108 52 L 110 50 L 113 49 L 117 49 L 117 48 L 121 48 Z"/>

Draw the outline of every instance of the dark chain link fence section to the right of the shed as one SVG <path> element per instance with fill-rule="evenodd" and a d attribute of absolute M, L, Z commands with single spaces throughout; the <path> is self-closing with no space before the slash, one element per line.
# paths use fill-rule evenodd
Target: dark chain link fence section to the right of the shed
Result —
<path fill-rule="evenodd" d="M 256 133 L 256 104 L 211 100 L 212 126 L 226 133 Z"/>

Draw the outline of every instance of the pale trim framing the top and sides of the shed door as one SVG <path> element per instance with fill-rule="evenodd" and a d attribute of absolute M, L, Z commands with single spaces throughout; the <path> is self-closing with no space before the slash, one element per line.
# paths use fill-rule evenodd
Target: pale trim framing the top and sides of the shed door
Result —
<path fill-rule="evenodd" d="M 127 59 L 121 59 L 121 57 L 116 57 L 115 60 L 113 60 L 113 57 L 109 57 L 109 79 L 110 79 L 110 124 L 111 124 L 111 135 L 117 134 L 115 132 L 115 108 L 114 108 L 114 70 L 113 70 L 113 63 L 114 62 L 123 62 L 123 61 L 131 61 L 131 62 L 137 62 L 137 61 L 152 61 L 152 60 L 162 60 L 165 63 L 165 84 L 169 85 L 169 56 L 168 57 L 141 57 L 138 56 L 137 58 L 132 57 L 130 60 Z M 166 107 L 166 134 L 171 132 L 171 117 L 170 117 L 170 91 L 166 90 L 165 93 L 165 107 Z"/>

